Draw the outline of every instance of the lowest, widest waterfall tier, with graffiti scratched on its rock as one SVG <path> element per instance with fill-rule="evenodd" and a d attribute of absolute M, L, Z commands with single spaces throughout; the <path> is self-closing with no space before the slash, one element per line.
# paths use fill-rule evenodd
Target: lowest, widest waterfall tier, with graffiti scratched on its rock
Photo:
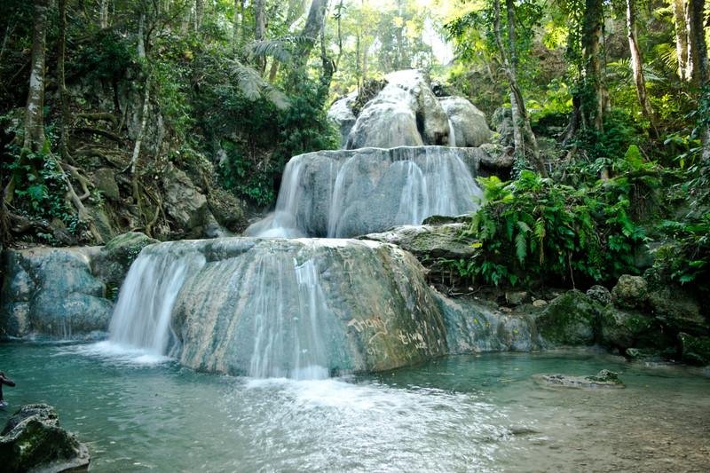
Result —
<path fill-rule="evenodd" d="M 446 353 L 444 320 L 421 265 L 391 245 L 178 241 L 146 248 L 139 267 L 122 288 L 111 339 L 171 352 L 187 367 L 312 378 Z M 165 343 L 145 340 L 147 330 L 133 329 L 143 323 L 138 319 L 164 323 L 154 337 Z"/>

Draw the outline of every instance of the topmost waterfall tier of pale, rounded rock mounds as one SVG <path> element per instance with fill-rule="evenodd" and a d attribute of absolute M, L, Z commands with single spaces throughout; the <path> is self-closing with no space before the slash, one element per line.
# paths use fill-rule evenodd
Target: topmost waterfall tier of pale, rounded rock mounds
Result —
<path fill-rule="evenodd" d="M 345 149 L 480 146 L 491 138 L 485 115 L 476 106 L 461 97 L 438 98 L 421 70 L 393 72 L 381 83 L 368 84 L 335 101 L 328 111 Z M 353 111 L 356 104 L 361 108 Z"/>

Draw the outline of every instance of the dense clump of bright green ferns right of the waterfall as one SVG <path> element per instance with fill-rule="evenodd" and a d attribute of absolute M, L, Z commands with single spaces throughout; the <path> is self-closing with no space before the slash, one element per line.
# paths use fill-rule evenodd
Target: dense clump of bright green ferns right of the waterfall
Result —
<path fill-rule="evenodd" d="M 475 272 L 486 283 L 516 285 L 609 281 L 635 272 L 643 230 L 628 217 L 627 199 L 543 179 L 523 170 L 512 182 L 479 178 L 485 205 L 471 221 L 479 240 Z"/>

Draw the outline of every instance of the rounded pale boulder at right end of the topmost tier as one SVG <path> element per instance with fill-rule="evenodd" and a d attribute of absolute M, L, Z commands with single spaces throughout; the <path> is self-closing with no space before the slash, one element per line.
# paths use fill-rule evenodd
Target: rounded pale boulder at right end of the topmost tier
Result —
<path fill-rule="evenodd" d="M 485 114 L 469 100 L 462 97 L 439 99 L 448 116 L 453 133 L 449 146 L 481 146 L 491 139 L 491 130 L 485 122 Z"/>

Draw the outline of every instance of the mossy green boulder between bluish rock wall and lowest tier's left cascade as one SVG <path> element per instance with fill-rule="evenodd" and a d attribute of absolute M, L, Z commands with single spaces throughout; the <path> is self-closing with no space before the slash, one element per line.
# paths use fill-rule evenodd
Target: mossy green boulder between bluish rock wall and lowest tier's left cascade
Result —
<path fill-rule="evenodd" d="M 104 281 L 112 292 L 120 288 L 128 274 L 130 264 L 143 248 L 157 243 L 145 233 L 129 232 L 118 235 L 106 243 L 99 253 L 91 258 L 91 271 Z M 109 296 L 114 296 L 109 294 Z"/>

